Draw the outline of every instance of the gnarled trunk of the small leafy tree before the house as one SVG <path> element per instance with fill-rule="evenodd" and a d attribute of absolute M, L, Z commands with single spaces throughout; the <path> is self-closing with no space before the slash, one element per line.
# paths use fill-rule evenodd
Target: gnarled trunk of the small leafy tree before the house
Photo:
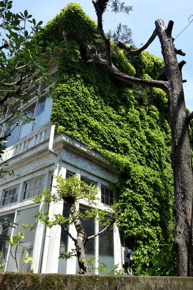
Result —
<path fill-rule="evenodd" d="M 80 218 L 77 214 L 75 201 L 64 199 L 64 201 L 67 203 L 70 214 L 75 218 L 74 219 L 74 225 L 77 231 L 77 238 L 76 238 L 76 253 L 77 253 L 77 259 L 78 259 L 78 265 L 79 265 L 79 274 L 88 274 L 88 264 L 86 262 L 86 256 L 85 256 L 85 244 L 86 244 L 86 233 L 84 231 L 84 228 L 82 226 L 82 223 L 80 221 Z"/>

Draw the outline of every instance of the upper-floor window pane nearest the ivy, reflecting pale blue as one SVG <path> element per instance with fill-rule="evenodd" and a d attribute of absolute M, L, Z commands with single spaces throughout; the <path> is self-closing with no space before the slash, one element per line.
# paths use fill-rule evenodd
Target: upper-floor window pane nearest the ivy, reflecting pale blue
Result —
<path fill-rule="evenodd" d="M 52 104 L 52 98 L 48 96 L 42 96 L 37 101 L 37 108 L 35 113 L 35 121 L 33 124 L 32 131 L 36 130 L 37 128 L 41 127 L 42 125 L 48 123 L 50 121 L 50 115 L 51 115 L 51 104 Z"/>

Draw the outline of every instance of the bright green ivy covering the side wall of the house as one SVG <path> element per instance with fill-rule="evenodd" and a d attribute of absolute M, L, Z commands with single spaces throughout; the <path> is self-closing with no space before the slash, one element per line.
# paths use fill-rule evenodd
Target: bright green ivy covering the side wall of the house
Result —
<path fill-rule="evenodd" d="M 99 150 L 121 170 L 115 186 L 119 228 L 127 245 L 135 249 L 135 263 L 148 264 L 167 240 L 172 216 L 170 123 L 167 106 L 160 106 L 166 95 L 153 89 L 156 102 L 139 106 L 149 98 L 147 87 L 117 80 L 90 60 L 88 43 L 103 54 L 104 47 L 97 24 L 79 4 L 68 4 L 45 29 L 45 39 L 61 40 L 63 31 L 68 39 L 67 51 L 59 58 L 51 122 Z M 158 57 L 144 51 L 128 59 L 113 44 L 112 57 L 122 72 L 132 76 L 155 78 L 163 68 Z"/>

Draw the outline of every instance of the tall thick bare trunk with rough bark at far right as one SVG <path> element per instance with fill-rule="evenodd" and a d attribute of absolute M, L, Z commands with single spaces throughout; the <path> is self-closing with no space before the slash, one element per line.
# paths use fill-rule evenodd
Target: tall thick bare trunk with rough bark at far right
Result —
<path fill-rule="evenodd" d="M 167 28 L 162 19 L 157 19 L 155 24 L 169 81 L 168 103 L 172 135 L 171 160 L 174 176 L 174 214 L 176 220 L 174 246 L 177 254 L 177 274 L 178 276 L 193 276 L 193 174 L 181 71 L 178 68 L 176 49 L 171 37 L 173 22 L 170 21 Z"/>

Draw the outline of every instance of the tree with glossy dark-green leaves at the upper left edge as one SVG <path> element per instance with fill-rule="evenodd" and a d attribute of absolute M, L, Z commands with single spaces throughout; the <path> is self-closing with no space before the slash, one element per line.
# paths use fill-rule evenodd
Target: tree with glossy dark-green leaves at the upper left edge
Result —
<path fill-rule="evenodd" d="M 36 23 L 27 10 L 14 14 L 11 8 L 12 1 L 0 1 L 0 142 L 15 128 L 9 130 L 13 116 L 18 116 L 15 126 L 32 121 L 19 105 L 40 94 L 41 82 L 53 83 L 48 60 L 56 60 L 56 51 L 65 45 L 65 41 L 43 43 L 42 21 Z M 1 144 L 0 157 L 4 149 Z M 1 164 L 0 177 L 6 172 Z"/>

